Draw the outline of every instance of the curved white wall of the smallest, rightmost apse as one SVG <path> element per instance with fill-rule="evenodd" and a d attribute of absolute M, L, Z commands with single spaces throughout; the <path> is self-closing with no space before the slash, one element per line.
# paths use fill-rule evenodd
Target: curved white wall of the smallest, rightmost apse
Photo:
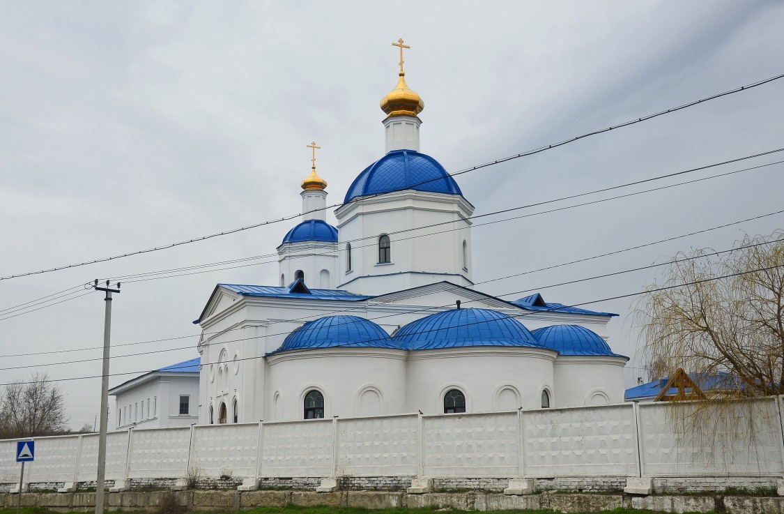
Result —
<path fill-rule="evenodd" d="M 553 406 L 598 406 L 622 403 L 625 357 L 558 355 L 554 364 Z"/>

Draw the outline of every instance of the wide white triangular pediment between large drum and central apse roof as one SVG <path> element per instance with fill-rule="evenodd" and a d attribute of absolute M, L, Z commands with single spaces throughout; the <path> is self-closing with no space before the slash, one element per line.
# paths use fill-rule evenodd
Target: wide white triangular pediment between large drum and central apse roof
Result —
<path fill-rule="evenodd" d="M 382 294 L 372 298 L 368 303 L 455 307 L 457 301 L 460 301 L 460 307 L 462 308 L 514 308 L 513 305 L 499 298 L 450 282 L 439 282 Z"/>

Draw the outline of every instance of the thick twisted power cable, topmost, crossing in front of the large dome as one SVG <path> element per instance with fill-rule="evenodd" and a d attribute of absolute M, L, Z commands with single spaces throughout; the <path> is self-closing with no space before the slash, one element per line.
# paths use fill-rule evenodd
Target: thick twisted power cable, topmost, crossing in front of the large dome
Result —
<path fill-rule="evenodd" d="M 640 118 L 634 118 L 634 119 L 631 119 L 630 121 L 619 123 L 618 125 L 608 126 L 607 128 L 604 128 L 604 129 L 594 130 L 594 131 L 589 132 L 589 133 L 584 133 L 584 134 L 582 134 L 580 136 L 571 137 L 569 139 L 557 141 L 556 143 L 553 143 L 553 144 L 547 144 L 545 146 L 541 146 L 539 148 L 534 148 L 532 150 L 524 151 L 524 152 L 521 152 L 519 154 L 510 155 L 510 156 L 504 157 L 502 159 L 496 159 L 495 161 L 485 162 L 484 164 L 480 164 L 480 165 L 477 165 L 477 166 L 471 166 L 470 168 L 466 168 L 465 170 L 459 170 L 459 171 L 456 171 L 454 173 L 449 173 L 449 175 L 452 176 L 452 177 L 456 177 L 457 175 L 462 175 L 463 173 L 470 173 L 472 171 L 481 170 L 483 168 L 487 168 L 488 166 L 495 166 L 496 164 L 500 164 L 502 162 L 508 162 L 508 161 L 511 161 L 511 160 L 514 160 L 514 159 L 520 159 L 522 157 L 527 157 L 529 155 L 535 155 L 535 154 L 541 153 L 543 151 L 548 151 L 548 150 L 551 150 L 553 148 L 558 148 L 558 147 L 564 146 L 566 144 L 573 143 L 573 142 L 575 142 L 577 140 L 585 139 L 586 137 L 592 137 L 592 136 L 595 136 L 597 134 L 608 132 L 608 131 L 613 130 L 613 129 L 619 129 L 619 128 L 622 128 L 622 127 L 631 126 L 631 125 L 634 125 L 634 124 L 637 124 L 637 123 L 641 123 L 641 122 L 647 121 L 647 120 L 652 119 L 652 118 L 657 118 L 659 116 L 663 116 L 663 115 L 667 115 L 667 114 L 670 114 L 670 113 L 673 113 L 673 112 L 681 111 L 683 109 L 690 108 L 690 107 L 693 107 L 693 106 L 695 106 L 697 104 L 702 104 L 702 103 L 705 103 L 705 102 L 710 101 L 710 100 L 715 100 L 717 98 L 726 97 L 726 96 L 734 94 L 734 93 L 740 93 L 742 91 L 747 91 L 747 90 L 755 88 L 757 86 L 762 86 L 764 84 L 767 84 L 768 82 L 773 82 L 775 80 L 779 80 L 779 78 L 784 78 L 784 74 L 775 75 L 773 77 L 765 78 L 765 79 L 757 81 L 757 82 L 752 82 L 750 84 L 747 84 L 746 86 L 740 86 L 740 87 L 735 88 L 735 89 L 730 89 L 728 91 L 724 91 L 723 93 L 713 94 L 710 97 L 705 97 L 705 98 L 702 98 L 702 99 L 699 99 L 699 100 L 694 100 L 694 101 L 688 102 L 687 104 L 681 104 L 681 105 L 679 105 L 677 107 L 674 107 L 674 108 L 669 108 L 669 109 L 666 109 L 664 111 L 655 112 L 655 113 L 653 113 L 651 115 L 645 115 L 645 116 L 642 116 Z M 430 181 L 433 181 L 433 180 L 443 180 L 443 177 L 438 177 L 437 179 L 423 180 L 422 182 L 419 182 L 419 183 L 413 184 L 413 185 L 422 185 L 422 184 L 426 184 L 426 183 L 428 183 Z M 387 191 L 387 192 L 389 192 L 389 191 Z M 375 196 L 383 195 L 383 194 L 386 194 L 386 192 L 384 192 L 384 193 L 377 193 L 375 195 L 368 195 L 366 198 L 373 198 Z M 308 213 L 318 212 L 320 210 L 332 209 L 332 208 L 336 208 L 336 207 L 343 206 L 343 205 L 345 205 L 345 204 L 344 203 L 336 203 L 336 204 L 332 204 L 331 206 L 325 206 L 325 207 L 323 207 L 321 209 L 308 211 Z M 84 262 L 80 262 L 80 263 L 76 263 L 76 264 L 65 264 L 63 266 L 58 266 L 56 268 L 46 268 L 46 269 L 38 270 L 38 271 L 35 271 L 35 272 L 24 272 L 24 273 L 18 273 L 16 275 L 7 275 L 7 276 L 4 276 L 4 277 L 0 277 L 0 280 L 17 279 L 17 278 L 24 277 L 24 276 L 29 276 L 29 275 L 40 275 L 42 273 L 58 272 L 58 271 L 61 271 L 61 270 L 64 270 L 64 269 L 78 268 L 80 266 L 86 266 L 86 265 L 89 265 L 89 264 L 96 264 L 96 263 L 99 263 L 99 262 L 114 261 L 114 260 L 117 260 L 117 259 L 122 259 L 124 257 L 130 257 L 132 255 L 139 255 L 141 253 L 151 253 L 151 252 L 156 252 L 156 251 L 159 251 L 159 250 L 167 250 L 167 249 L 173 248 L 175 246 L 183 246 L 183 245 L 190 244 L 192 242 L 205 241 L 206 239 L 212 239 L 212 238 L 220 237 L 220 236 L 223 236 L 223 235 L 230 235 L 230 234 L 237 233 L 239 231 L 249 230 L 251 228 L 259 228 L 259 227 L 262 227 L 264 225 L 280 223 L 281 221 L 287 221 L 287 220 L 291 220 L 293 218 L 299 217 L 302 214 L 303 213 L 297 213 L 297 214 L 281 217 L 281 218 L 275 219 L 275 220 L 262 221 L 260 223 L 247 225 L 245 227 L 234 228 L 234 229 L 230 229 L 230 230 L 222 231 L 222 232 L 216 232 L 216 233 L 210 234 L 210 235 L 203 235 L 201 237 L 197 237 L 197 238 L 194 238 L 194 239 L 186 239 L 186 240 L 179 241 L 179 242 L 172 242 L 172 243 L 169 243 L 169 244 L 165 244 L 163 246 L 154 246 L 152 248 L 148 248 L 148 249 L 145 249 L 145 250 L 136 250 L 136 251 L 129 252 L 129 253 L 122 253 L 122 254 L 119 254 L 119 255 L 114 255 L 112 257 L 103 257 L 103 258 L 100 258 L 100 259 L 94 259 L 93 261 L 84 261 Z"/>

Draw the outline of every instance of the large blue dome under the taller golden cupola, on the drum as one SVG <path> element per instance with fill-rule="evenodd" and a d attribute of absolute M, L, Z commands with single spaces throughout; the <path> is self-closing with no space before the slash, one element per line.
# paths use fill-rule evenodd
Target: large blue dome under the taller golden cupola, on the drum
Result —
<path fill-rule="evenodd" d="M 393 150 L 354 179 L 343 202 L 348 203 L 359 196 L 405 189 L 463 195 L 444 166 L 430 155 L 413 150 Z"/>

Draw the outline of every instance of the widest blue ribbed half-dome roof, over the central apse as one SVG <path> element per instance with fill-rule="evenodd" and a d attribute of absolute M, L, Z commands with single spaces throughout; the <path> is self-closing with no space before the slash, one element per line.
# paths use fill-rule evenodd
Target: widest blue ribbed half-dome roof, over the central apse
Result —
<path fill-rule="evenodd" d="M 485 308 L 456 308 L 417 319 L 398 330 L 394 341 L 408 350 L 461 346 L 542 347 L 517 319 Z"/>

